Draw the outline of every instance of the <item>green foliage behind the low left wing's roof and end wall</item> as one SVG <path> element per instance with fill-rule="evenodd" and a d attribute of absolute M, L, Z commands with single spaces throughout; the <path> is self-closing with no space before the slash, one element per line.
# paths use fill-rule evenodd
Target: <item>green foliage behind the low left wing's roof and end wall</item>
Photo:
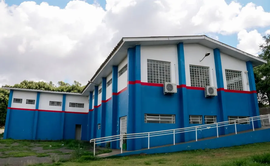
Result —
<path fill-rule="evenodd" d="M 13 88 L 23 88 L 23 89 L 35 89 L 35 90 L 49 90 L 49 91 L 58 91 L 58 92 L 72 92 L 72 93 L 82 93 L 82 90 L 85 86 L 82 86 L 78 81 L 74 81 L 72 85 L 59 81 L 58 86 L 50 81 L 49 83 L 39 81 L 28 81 L 24 80 L 21 83 L 10 86 Z M 8 86 L 8 85 L 6 85 Z M 8 107 L 8 98 L 9 91 L 0 88 L 0 125 L 5 125 L 7 107 Z"/>

